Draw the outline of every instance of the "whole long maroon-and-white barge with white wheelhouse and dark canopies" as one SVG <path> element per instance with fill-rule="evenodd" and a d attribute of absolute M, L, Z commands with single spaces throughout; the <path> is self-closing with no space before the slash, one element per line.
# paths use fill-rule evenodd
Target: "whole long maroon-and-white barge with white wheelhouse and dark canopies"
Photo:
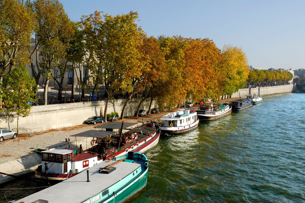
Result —
<path fill-rule="evenodd" d="M 35 177 L 62 181 L 113 156 L 123 156 L 128 152 L 144 153 L 158 144 L 160 129 L 157 126 L 147 124 L 131 129 L 133 125 L 136 123 L 112 122 L 95 127 L 106 130 L 89 130 L 72 135 L 92 138 L 90 148 L 83 151 L 80 146 L 78 153 L 65 149 L 42 151 L 42 164 L 38 166 Z M 113 131 L 116 129 L 120 131 Z"/>

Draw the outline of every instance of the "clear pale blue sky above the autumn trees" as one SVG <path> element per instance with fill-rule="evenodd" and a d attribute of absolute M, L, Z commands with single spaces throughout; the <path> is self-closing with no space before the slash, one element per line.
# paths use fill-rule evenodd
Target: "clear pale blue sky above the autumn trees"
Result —
<path fill-rule="evenodd" d="M 253 68 L 305 68 L 305 1 L 60 0 L 71 20 L 137 11 L 148 36 L 210 38 L 242 48 Z"/>

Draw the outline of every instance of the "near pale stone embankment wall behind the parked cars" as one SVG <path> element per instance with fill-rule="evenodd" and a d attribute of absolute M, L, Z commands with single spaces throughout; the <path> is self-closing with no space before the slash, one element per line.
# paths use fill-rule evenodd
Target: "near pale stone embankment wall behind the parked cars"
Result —
<path fill-rule="evenodd" d="M 107 114 L 118 112 L 120 115 L 125 101 L 126 99 L 109 101 Z M 140 98 L 131 99 L 125 109 L 124 117 L 134 116 L 139 103 Z M 149 103 L 149 99 L 145 100 L 141 109 L 148 110 Z M 106 100 L 34 106 L 27 117 L 19 117 L 18 127 L 49 130 L 83 124 L 89 117 L 100 115 L 101 110 L 103 114 L 105 104 Z M 155 103 L 152 103 L 153 107 L 155 107 Z M 17 128 L 17 115 L 7 115 L 4 112 L 0 114 L 0 127 Z"/>

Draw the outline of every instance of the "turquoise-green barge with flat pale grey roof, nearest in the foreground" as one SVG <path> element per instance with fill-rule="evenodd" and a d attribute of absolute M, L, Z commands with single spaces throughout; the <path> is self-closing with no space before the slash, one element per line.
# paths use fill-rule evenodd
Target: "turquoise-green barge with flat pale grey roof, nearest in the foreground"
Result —
<path fill-rule="evenodd" d="M 128 152 L 16 202 L 127 202 L 145 189 L 148 168 L 149 161 L 143 153 Z"/>

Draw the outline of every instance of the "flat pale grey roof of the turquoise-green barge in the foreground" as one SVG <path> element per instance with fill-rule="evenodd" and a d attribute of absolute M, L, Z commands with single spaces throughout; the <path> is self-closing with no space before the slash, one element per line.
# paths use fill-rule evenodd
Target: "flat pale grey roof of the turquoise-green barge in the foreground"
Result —
<path fill-rule="evenodd" d="M 111 185 L 119 182 L 121 179 L 138 169 L 141 165 L 138 163 L 129 163 L 122 161 L 113 165 L 116 170 L 113 172 L 99 173 L 100 167 L 106 167 L 116 161 L 101 162 L 89 168 L 89 180 L 87 182 L 87 171 L 83 171 L 76 176 L 70 177 L 61 183 L 47 187 L 46 189 L 31 194 L 16 202 L 33 202 L 38 199 L 47 200 L 49 203 L 76 203 L 82 202 L 86 199 L 106 190 Z M 109 191 L 112 192 L 112 191 Z"/>

